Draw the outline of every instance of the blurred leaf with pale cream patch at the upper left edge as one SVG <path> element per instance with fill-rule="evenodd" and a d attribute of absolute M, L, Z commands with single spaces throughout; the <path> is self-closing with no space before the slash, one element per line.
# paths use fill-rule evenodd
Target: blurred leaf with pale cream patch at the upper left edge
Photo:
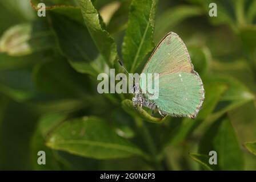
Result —
<path fill-rule="evenodd" d="M 43 20 L 10 27 L 0 39 L 0 52 L 10 56 L 29 55 L 55 47 L 53 34 Z"/>

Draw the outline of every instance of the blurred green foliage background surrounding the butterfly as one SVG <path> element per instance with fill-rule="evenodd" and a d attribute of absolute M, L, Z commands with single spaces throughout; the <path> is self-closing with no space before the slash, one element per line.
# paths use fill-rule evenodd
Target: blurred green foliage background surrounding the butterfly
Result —
<path fill-rule="evenodd" d="M 39 2 L 50 9 L 46 17 L 31 7 Z M 154 1 L 135 2 L 93 1 L 101 16 L 83 22 L 75 0 L 0 0 L 0 169 L 256 170 L 256 1 L 158 2 L 154 45 L 176 32 L 206 90 L 197 119 L 162 123 L 136 113 L 128 94 L 97 93 L 97 71 L 108 63 L 99 47 L 109 48 L 110 38 L 91 38 L 93 26 L 109 32 L 127 64 L 126 32 L 143 31 L 142 16 L 129 11 L 146 14 Z M 217 17 L 209 16 L 211 2 Z M 37 163 L 40 150 L 46 165 Z M 211 150 L 218 165 L 207 162 Z"/>

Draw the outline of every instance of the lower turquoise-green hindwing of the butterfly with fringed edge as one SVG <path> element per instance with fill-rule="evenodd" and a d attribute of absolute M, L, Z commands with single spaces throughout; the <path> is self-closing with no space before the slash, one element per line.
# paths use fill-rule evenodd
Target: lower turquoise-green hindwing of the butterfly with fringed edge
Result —
<path fill-rule="evenodd" d="M 159 77 L 159 96 L 154 100 L 161 111 L 175 117 L 197 117 L 204 90 L 201 78 L 192 73 L 170 73 Z"/>

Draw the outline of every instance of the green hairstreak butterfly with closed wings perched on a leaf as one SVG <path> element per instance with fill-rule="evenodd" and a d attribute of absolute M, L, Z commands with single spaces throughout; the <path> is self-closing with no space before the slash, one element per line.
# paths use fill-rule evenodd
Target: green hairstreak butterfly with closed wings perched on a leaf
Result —
<path fill-rule="evenodd" d="M 158 98 L 150 100 L 150 93 L 137 93 L 133 104 L 158 109 L 161 115 L 195 118 L 205 99 L 205 90 L 194 71 L 189 52 L 182 39 L 174 32 L 167 34 L 147 61 L 142 73 L 159 74 Z M 142 84 L 135 84 L 141 90 Z"/>

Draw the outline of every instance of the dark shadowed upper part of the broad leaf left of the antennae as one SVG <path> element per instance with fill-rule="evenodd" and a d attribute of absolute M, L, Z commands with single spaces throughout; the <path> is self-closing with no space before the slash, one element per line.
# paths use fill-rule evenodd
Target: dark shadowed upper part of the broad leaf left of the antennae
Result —
<path fill-rule="evenodd" d="M 61 53 L 71 61 L 90 63 L 97 55 L 97 48 L 85 26 L 57 13 L 50 18 Z"/>

